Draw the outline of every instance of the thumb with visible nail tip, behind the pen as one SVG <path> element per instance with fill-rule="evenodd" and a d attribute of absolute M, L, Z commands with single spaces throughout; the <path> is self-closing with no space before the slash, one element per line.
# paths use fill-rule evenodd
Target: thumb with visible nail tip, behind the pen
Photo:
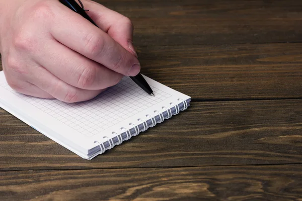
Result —
<path fill-rule="evenodd" d="M 91 19 L 123 48 L 137 57 L 133 47 L 133 24 L 129 18 L 96 2 L 85 1 L 85 9 Z"/>

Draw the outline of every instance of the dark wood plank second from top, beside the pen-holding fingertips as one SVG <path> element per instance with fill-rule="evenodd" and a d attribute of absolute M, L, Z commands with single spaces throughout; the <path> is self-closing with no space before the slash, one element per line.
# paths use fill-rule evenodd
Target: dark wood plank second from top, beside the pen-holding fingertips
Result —
<path fill-rule="evenodd" d="M 302 43 L 138 47 L 142 73 L 204 100 L 301 98 Z M 0 63 L 0 70 L 2 65 Z"/>

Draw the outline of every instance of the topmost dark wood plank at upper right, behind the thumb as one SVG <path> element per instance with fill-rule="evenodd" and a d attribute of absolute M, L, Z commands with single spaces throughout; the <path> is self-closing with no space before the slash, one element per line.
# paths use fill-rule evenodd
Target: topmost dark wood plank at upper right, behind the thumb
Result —
<path fill-rule="evenodd" d="M 132 20 L 138 46 L 302 41 L 301 1 L 97 2 Z"/>

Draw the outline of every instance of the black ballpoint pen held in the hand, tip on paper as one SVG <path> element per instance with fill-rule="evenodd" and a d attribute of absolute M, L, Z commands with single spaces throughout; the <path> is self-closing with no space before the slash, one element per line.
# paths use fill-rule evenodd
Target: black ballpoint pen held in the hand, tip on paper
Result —
<path fill-rule="evenodd" d="M 59 0 L 60 3 L 62 3 L 63 5 L 65 5 L 66 7 L 68 7 L 69 9 L 71 9 L 72 11 L 74 11 L 75 13 L 80 14 L 82 17 L 84 17 L 85 19 L 87 19 L 88 21 L 90 21 L 92 24 L 94 24 L 95 26 L 98 27 L 98 25 L 89 17 L 89 15 L 87 15 L 86 11 L 84 10 L 84 7 L 81 3 L 81 0 L 79 1 L 81 6 L 75 2 L 74 0 Z M 140 88 L 142 88 L 144 91 L 146 91 L 148 94 L 152 94 L 153 90 L 151 89 L 151 87 L 149 86 L 149 84 L 147 83 L 147 81 L 143 78 L 143 76 L 138 73 L 136 76 L 134 77 L 130 77 Z"/>

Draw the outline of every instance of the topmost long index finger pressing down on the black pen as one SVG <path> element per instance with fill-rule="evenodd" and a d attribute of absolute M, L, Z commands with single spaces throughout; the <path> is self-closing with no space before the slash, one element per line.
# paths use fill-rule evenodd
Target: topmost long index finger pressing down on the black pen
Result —
<path fill-rule="evenodd" d="M 118 73 L 138 74 L 140 65 L 136 57 L 79 14 L 63 5 L 59 9 L 50 28 L 57 41 Z"/>

